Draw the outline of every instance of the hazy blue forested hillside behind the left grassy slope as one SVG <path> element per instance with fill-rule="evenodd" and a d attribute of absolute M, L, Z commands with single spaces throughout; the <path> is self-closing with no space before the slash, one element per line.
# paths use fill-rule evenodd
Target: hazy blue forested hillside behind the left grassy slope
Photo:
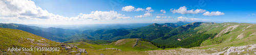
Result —
<path fill-rule="evenodd" d="M 23 30 L 53 41 L 57 41 L 57 42 L 63 42 L 63 41 L 67 41 L 66 38 L 77 34 L 78 30 L 73 30 L 73 29 L 61 29 L 61 28 L 40 28 L 40 27 L 36 27 L 36 26 L 27 26 L 27 25 L 23 25 L 23 24 L 4 24 L 4 23 L 0 23 L 0 27 L 1 28 L 10 28 L 10 29 L 19 29 L 19 30 Z"/>

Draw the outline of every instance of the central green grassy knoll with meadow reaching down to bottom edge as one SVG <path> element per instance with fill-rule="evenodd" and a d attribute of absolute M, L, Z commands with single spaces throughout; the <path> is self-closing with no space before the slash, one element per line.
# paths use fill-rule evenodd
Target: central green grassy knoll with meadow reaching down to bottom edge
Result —
<path fill-rule="evenodd" d="M 86 42 L 69 43 L 71 45 L 77 45 L 79 48 L 87 49 L 90 54 L 147 54 L 144 51 L 160 49 L 150 42 L 138 40 L 138 45 L 134 46 L 137 39 L 121 39 L 116 44 L 112 42 L 110 44 L 90 44 Z M 110 50 L 105 48 L 117 48 L 121 50 Z"/>

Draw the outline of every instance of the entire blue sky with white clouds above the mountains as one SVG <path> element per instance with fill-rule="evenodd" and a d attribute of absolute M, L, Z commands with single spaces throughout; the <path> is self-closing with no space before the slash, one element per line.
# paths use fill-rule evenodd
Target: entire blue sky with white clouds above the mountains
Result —
<path fill-rule="evenodd" d="M 256 23 L 255 0 L 0 0 L 0 23 Z"/>

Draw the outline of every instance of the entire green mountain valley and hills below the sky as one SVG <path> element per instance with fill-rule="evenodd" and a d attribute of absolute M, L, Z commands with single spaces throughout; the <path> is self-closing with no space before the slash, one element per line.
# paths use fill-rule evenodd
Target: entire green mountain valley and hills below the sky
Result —
<path fill-rule="evenodd" d="M 181 23 L 181 24 L 179 24 Z M 186 23 L 186 22 L 185 22 Z M 177 26 L 178 25 L 178 26 Z M 194 22 L 186 23 L 164 23 L 151 24 L 144 27 L 132 29 L 99 29 L 83 30 L 40 28 L 35 26 L 22 26 L 21 24 L 1 24 L 2 35 L 1 46 L 25 47 L 33 44 L 34 47 L 61 47 L 61 44 L 72 46 L 71 50 L 62 48 L 56 52 L 62 54 L 77 54 L 78 49 L 86 49 L 89 54 L 255 54 L 255 24 L 248 23 L 208 23 Z M 21 28 L 23 27 L 23 28 Z M 11 28 L 11 29 L 7 29 Z M 20 30 L 16 30 L 20 29 Z M 22 31 L 23 30 L 23 31 Z M 44 31 L 42 31 L 44 30 Z M 7 31 L 5 33 L 5 31 Z M 22 31 L 22 33 L 16 33 Z M 25 32 L 28 31 L 28 32 Z M 10 32 L 10 33 L 9 33 Z M 30 33 L 29 33 L 30 32 Z M 10 34 L 14 35 L 10 35 Z M 32 33 L 32 34 L 31 34 Z M 34 34 L 33 34 L 34 33 Z M 42 37 L 36 33 L 43 33 Z M 51 33 L 48 35 L 46 33 Z M 29 34 L 29 35 L 24 35 Z M 65 34 L 65 35 L 59 35 Z M 16 36 L 17 35 L 17 36 Z M 37 36 L 38 37 L 33 37 Z M 48 36 L 44 36 L 48 35 Z M 19 39 L 20 43 L 7 44 L 11 42 L 4 40 L 11 36 Z M 54 38 L 56 37 L 56 38 Z M 25 41 L 25 38 L 26 41 Z M 48 38 L 50 40 L 48 40 Z M 24 39 L 24 40 L 20 40 Z M 33 40 L 31 40 L 33 39 Z M 44 39 L 44 40 L 42 40 Z M 51 41 L 51 39 L 53 41 Z M 54 42 L 63 39 L 63 43 Z M 25 42 L 23 42 L 25 41 Z M 25 44 L 25 45 L 23 45 Z M 49 46 L 52 45 L 52 46 Z M 12 46 L 11 46 L 12 45 Z M 74 46 L 78 47 L 75 48 Z M 1 53 L 12 54 L 1 48 Z M 65 46 L 66 47 L 66 46 Z M 74 51 L 74 52 L 71 52 Z M 24 53 L 47 53 L 40 52 L 15 52 Z M 65 54 L 65 53 L 63 53 Z M 83 52 L 82 54 L 86 54 Z"/>

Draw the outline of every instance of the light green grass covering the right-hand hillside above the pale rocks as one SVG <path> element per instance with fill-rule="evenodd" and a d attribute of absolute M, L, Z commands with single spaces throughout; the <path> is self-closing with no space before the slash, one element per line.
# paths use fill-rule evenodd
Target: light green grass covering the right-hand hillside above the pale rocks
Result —
<path fill-rule="evenodd" d="M 223 48 L 225 46 L 242 46 L 256 43 L 256 36 L 251 35 L 256 32 L 256 27 L 253 24 L 245 24 L 245 23 L 229 23 L 229 25 L 221 28 L 214 28 L 205 33 L 214 33 L 220 32 L 228 26 L 239 25 L 236 29 L 230 31 L 230 33 L 216 37 L 214 39 L 208 39 L 201 43 L 200 47 L 192 47 L 198 49 L 208 49 L 208 48 Z M 223 25 L 222 25 L 223 26 Z M 248 27 L 251 26 L 251 27 Z M 213 27 L 213 26 L 211 26 Z M 248 27 L 248 28 L 247 28 Z M 203 30 L 203 29 L 202 29 Z M 243 34 L 242 34 L 243 33 Z M 224 33 L 222 33 L 224 34 Z M 242 34 L 243 37 L 241 39 L 238 38 L 238 35 Z M 241 36 L 240 36 L 241 37 Z M 222 41 L 222 42 L 217 42 Z"/>

